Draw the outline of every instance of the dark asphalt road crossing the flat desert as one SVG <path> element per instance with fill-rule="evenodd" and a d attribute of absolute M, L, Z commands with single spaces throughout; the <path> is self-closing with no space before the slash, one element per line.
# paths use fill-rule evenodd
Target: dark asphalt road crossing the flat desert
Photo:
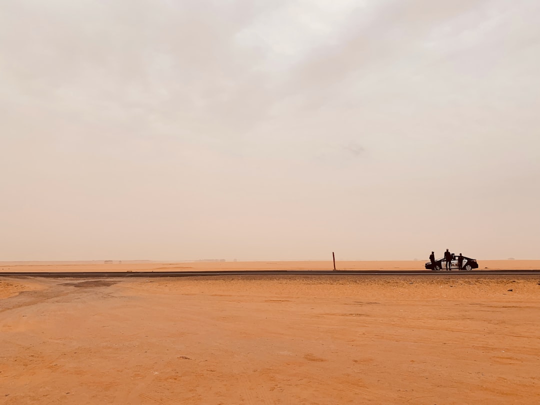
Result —
<path fill-rule="evenodd" d="M 103 277 L 193 277 L 193 276 L 224 276 L 224 275 L 355 275 L 355 276 L 514 276 L 540 275 L 539 270 L 483 270 L 483 271 L 438 271 L 431 270 L 251 270 L 251 271 L 198 271 L 198 272 L 2 272 L 0 277 L 48 277 L 48 278 L 103 278 Z"/>

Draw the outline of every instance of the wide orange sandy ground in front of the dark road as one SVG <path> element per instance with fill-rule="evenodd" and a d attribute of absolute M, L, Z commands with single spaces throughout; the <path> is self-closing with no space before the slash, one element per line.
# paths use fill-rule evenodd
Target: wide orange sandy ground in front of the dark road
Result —
<path fill-rule="evenodd" d="M 0 403 L 540 403 L 538 276 L 1 278 L 0 291 Z"/>

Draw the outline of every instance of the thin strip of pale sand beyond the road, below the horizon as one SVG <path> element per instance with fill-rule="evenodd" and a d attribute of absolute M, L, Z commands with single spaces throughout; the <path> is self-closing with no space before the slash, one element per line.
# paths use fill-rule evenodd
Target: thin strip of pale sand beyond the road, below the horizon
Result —
<path fill-rule="evenodd" d="M 337 261 L 340 270 L 424 270 L 428 260 Z M 536 270 L 540 260 L 478 260 L 480 270 Z M 330 270 L 332 261 L 138 262 L 0 262 L 0 272 Z"/>

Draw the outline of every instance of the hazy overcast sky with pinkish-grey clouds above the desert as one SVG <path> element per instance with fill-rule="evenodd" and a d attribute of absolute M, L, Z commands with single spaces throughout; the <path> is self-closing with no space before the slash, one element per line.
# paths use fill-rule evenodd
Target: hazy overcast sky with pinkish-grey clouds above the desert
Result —
<path fill-rule="evenodd" d="M 0 260 L 540 259 L 537 0 L 1 0 Z"/>

